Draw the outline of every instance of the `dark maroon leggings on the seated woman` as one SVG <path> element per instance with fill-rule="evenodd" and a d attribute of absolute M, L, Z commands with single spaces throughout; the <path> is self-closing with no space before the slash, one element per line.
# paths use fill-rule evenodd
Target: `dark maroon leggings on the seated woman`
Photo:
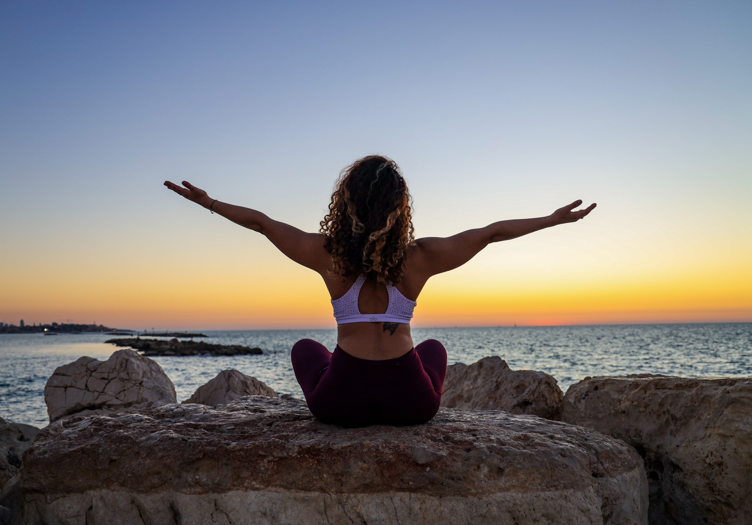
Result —
<path fill-rule="evenodd" d="M 383 361 L 301 339 L 291 358 L 311 413 L 341 426 L 425 423 L 438 411 L 447 373 L 447 351 L 435 339 Z"/>

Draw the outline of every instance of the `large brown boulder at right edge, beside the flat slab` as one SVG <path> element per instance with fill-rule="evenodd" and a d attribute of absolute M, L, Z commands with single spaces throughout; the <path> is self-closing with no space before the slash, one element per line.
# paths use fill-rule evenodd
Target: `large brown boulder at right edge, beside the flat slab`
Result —
<path fill-rule="evenodd" d="M 650 523 L 752 523 L 752 378 L 585 378 L 562 420 L 644 457 Z"/>

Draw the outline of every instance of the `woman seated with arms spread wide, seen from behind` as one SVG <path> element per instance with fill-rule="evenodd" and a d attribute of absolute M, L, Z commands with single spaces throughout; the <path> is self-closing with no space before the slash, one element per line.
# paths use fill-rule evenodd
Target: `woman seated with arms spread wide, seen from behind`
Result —
<path fill-rule="evenodd" d="M 293 261 L 321 275 L 332 297 L 337 346 L 293 346 L 296 378 L 311 412 L 326 423 L 423 423 L 438 411 L 447 353 L 435 339 L 414 346 L 410 320 L 420 290 L 436 274 L 472 259 L 492 242 L 585 217 L 572 202 L 547 217 L 502 220 L 451 237 L 415 239 L 411 196 L 396 163 L 371 155 L 345 168 L 319 233 L 260 211 L 212 199 L 183 181 L 165 186 L 213 213 L 265 235 Z"/>

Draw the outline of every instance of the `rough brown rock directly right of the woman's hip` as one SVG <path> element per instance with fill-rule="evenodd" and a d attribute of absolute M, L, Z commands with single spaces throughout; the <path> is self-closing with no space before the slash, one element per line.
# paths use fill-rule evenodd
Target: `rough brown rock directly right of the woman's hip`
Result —
<path fill-rule="evenodd" d="M 460 410 L 503 410 L 558 420 L 563 394 L 545 372 L 512 370 L 499 356 L 447 366 L 441 406 Z"/>

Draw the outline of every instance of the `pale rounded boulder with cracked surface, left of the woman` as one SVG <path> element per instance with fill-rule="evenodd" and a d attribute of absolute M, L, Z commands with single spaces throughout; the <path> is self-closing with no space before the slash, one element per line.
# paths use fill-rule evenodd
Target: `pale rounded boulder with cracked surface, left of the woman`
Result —
<path fill-rule="evenodd" d="M 119 350 L 106 361 L 80 357 L 58 366 L 44 387 L 50 423 L 174 403 L 175 387 L 155 361 Z"/>

